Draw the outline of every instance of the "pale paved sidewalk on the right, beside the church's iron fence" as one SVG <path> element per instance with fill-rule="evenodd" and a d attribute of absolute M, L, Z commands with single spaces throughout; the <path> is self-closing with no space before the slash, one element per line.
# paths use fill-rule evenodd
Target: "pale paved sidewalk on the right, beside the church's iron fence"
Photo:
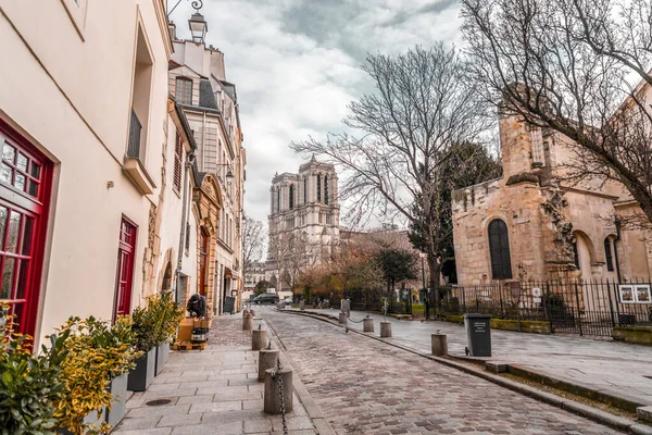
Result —
<path fill-rule="evenodd" d="M 293 311 L 299 311 L 293 309 Z M 333 315 L 339 310 L 306 309 L 308 312 Z M 366 312 L 351 311 L 351 319 L 361 321 Z M 381 314 L 369 314 L 376 323 Z M 465 356 L 464 325 L 448 322 L 399 321 L 387 318 L 392 338 L 405 347 L 430 352 L 430 334 L 448 335 L 449 353 Z M 349 322 L 348 327 L 362 331 L 362 323 Z M 491 360 L 517 364 L 536 373 L 554 376 L 589 389 L 604 391 L 638 403 L 652 405 L 652 347 L 612 340 L 598 340 L 567 335 L 538 335 L 491 331 Z"/>

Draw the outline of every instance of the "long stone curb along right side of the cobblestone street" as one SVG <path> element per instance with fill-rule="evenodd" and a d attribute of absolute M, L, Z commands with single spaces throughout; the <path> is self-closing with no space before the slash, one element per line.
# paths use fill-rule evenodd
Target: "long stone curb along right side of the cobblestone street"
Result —
<path fill-rule="evenodd" d="M 334 322 L 334 321 L 336 321 L 338 319 L 336 319 L 336 318 L 334 318 L 331 315 L 328 315 L 328 314 L 308 313 L 308 312 L 300 312 L 300 311 L 293 311 L 293 310 L 292 311 L 290 311 L 290 310 L 281 310 L 279 312 L 292 313 L 292 314 L 296 314 L 296 315 L 303 315 L 303 316 L 306 316 L 306 318 L 312 318 L 312 319 L 315 319 L 315 320 L 319 320 L 322 322 L 329 323 L 329 324 L 331 324 L 334 326 L 344 327 L 344 325 L 340 325 L 339 323 Z M 399 345 L 397 343 L 388 341 L 385 338 L 380 338 L 380 337 L 376 337 L 376 336 L 369 335 L 369 333 L 363 333 L 363 332 L 360 332 L 358 330 L 353 330 L 353 328 L 350 328 L 350 327 L 349 327 L 349 331 L 351 331 L 351 332 L 353 332 L 355 334 L 362 335 L 364 337 L 368 337 L 368 338 L 375 339 L 377 341 L 385 343 L 386 345 L 393 346 L 396 348 L 405 350 L 408 352 L 417 355 L 419 357 L 427 358 L 427 359 L 429 359 L 431 361 L 439 362 L 439 363 L 441 363 L 443 365 L 448 365 L 450 368 L 457 369 L 457 370 L 460 370 L 460 371 L 462 371 L 464 373 L 468 373 L 468 374 L 472 374 L 474 376 L 484 378 L 485 381 L 492 382 L 492 383 L 494 383 L 497 385 L 500 385 L 500 386 L 505 387 L 507 389 L 511 389 L 513 391 L 523 394 L 525 396 L 528 396 L 528 397 L 530 397 L 532 399 L 542 401 L 544 403 L 555 406 L 557 408 L 561 408 L 561 409 L 566 410 L 568 412 L 572 412 L 574 414 L 587 418 L 587 419 L 592 420 L 594 422 L 607 425 L 610 427 L 614 427 L 614 428 L 617 428 L 619 431 L 628 432 L 628 433 L 635 434 L 635 435 L 652 435 L 652 426 L 648 426 L 645 424 L 637 423 L 637 422 L 634 422 L 631 420 L 627 420 L 625 418 L 611 414 L 609 412 L 605 412 L 605 411 L 602 411 L 602 410 L 589 407 L 589 406 L 584 405 L 584 403 L 579 403 L 579 402 L 574 401 L 574 400 L 567 400 L 567 399 L 561 398 L 559 396 L 552 395 L 550 393 L 541 391 L 541 390 L 539 390 L 537 388 L 534 388 L 534 387 L 530 387 L 528 385 L 519 384 L 517 382 L 514 382 L 514 381 L 511 381 L 511 380 L 506 380 L 504 377 L 501 377 L 501 376 L 498 376 L 498 375 L 493 375 L 493 374 L 488 373 L 488 372 L 480 372 L 480 371 L 477 371 L 477 370 L 474 370 L 474 369 L 469 369 L 468 366 L 466 366 L 464 364 L 461 364 L 461 363 L 459 363 L 459 362 L 456 362 L 454 360 L 448 359 L 448 358 L 435 357 L 435 356 L 431 356 L 431 355 L 428 355 L 428 353 L 423 353 L 423 352 L 419 352 L 417 350 L 411 349 L 409 347 Z"/>

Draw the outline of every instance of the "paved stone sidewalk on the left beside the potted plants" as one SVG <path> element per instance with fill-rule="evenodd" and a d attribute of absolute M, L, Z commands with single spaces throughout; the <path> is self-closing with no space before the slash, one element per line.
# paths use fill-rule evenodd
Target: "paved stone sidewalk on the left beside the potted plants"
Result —
<path fill-rule="evenodd" d="M 251 336 L 242 331 L 241 316 L 213 320 L 206 349 L 172 351 L 149 389 L 129 398 L 127 414 L 112 433 L 283 434 L 280 415 L 263 413 L 264 384 L 258 382 L 258 352 L 250 349 Z M 289 434 L 315 435 L 297 394 L 293 405 L 287 417 Z"/>

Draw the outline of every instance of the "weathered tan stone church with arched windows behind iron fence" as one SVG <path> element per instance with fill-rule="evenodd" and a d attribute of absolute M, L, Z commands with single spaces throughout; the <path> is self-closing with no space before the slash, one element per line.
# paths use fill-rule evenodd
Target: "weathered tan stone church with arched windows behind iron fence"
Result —
<path fill-rule="evenodd" d="M 649 281 L 652 234 L 614 219 L 640 211 L 625 188 L 559 186 L 563 163 L 572 158 L 568 138 L 514 116 L 501 119 L 499 127 L 503 176 L 453 192 L 459 284 L 543 281 L 568 271 L 582 279 Z M 555 196 L 567 206 L 544 209 Z M 572 223 L 572 234 L 561 235 L 563 223 Z"/>

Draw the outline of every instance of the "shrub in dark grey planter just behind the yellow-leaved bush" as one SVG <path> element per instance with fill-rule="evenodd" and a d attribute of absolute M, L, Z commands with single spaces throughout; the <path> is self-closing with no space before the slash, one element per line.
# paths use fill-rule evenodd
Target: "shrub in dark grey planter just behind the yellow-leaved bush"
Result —
<path fill-rule="evenodd" d="M 131 313 L 134 321 L 134 348 L 141 352 L 135 361 L 135 366 L 129 371 L 127 389 L 130 391 L 145 391 L 154 380 L 156 363 L 156 345 L 160 338 L 160 326 L 153 312 L 147 307 L 137 307 Z"/>

